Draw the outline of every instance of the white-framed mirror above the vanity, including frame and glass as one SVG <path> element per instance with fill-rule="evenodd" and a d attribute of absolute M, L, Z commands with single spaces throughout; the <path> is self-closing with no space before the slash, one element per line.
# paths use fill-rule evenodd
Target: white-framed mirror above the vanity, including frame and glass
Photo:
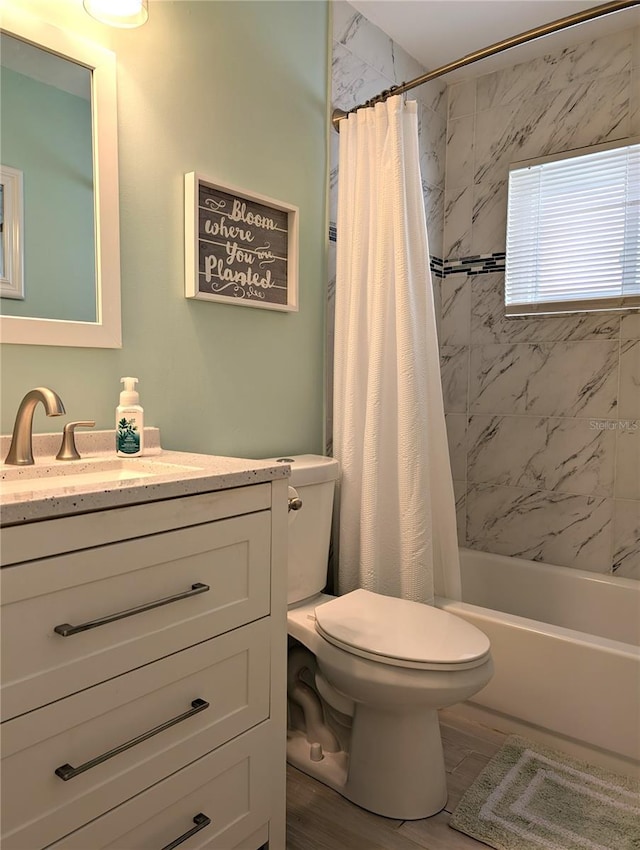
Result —
<path fill-rule="evenodd" d="M 6 7 L 0 57 L 2 342 L 119 348 L 115 56 Z"/>

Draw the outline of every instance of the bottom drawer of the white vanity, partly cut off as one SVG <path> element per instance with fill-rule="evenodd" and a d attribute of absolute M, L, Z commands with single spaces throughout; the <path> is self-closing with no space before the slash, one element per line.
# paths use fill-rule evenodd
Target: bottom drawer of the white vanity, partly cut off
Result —
<path fill-rule="evenodd" d="M 261 724 L 50 850 L 161 850 L 193 829 L 199 814 L 210 823 L 180 850 L 258 850 L 268 839 L 270 733 L 270 724 Z"/>

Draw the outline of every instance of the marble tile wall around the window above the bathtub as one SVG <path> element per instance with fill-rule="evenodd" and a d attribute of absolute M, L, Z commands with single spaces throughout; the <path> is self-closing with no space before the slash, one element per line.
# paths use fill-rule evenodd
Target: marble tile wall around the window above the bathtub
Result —
<path fill-rule="evenodd" d="M 480 66 L 478 66 L 480 67 Z M 448 92 L 440 343 L 459 536 L 640 579 L 640 313 L 507 319 L 512 161 L 640 134 L 640 29 Z"/>

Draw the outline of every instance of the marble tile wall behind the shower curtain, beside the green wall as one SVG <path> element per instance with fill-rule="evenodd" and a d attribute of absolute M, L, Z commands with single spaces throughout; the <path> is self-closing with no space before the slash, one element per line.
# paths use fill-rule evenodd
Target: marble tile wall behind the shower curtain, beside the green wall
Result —
<path fill-rule="evenodd" d="M 333 0 L 332 108 L 352 109 L 392 85 L 424 74 L 425 69 L 389 36 L 345 0 Z M 446 83 L 434 80 L 415 90 L 420 131 L 420 169 L 433 267 L 442 267 L 444 177 L 447 131 Z M 331 452 L 333 329 L 335 305 L 335 222 L 338 200 L 339 134 L 331 130 L 329 184 L 329 287 L 327 299 L 327 424 Z M 434 291 L 439 297 L 439 290 Z M 439 314 L 439 307 L 437 307 Z"/>

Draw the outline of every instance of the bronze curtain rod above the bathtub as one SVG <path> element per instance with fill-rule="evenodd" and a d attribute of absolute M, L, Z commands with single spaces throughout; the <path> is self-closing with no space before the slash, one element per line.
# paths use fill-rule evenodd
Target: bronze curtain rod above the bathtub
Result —
<path fill-rule="evenodd" d="M 471 65 L 473 62 L 479 62 L 481 59 L 486 59 L 489 56 L 495 56 L 497 53 L 502 53 L 503 50 L 509 50 L 511 47 L 518 47 L 520 44 L 526 44 L 528 41 L 534 41 L 535 39 L 542 38 L 545 35 L 551 35 L 554 32 L 560 32 L 560 30 L 574 27 L 577 24 L 584 23 L 585 21 L 592 21 L 596 18 L 601 18 L 604 15 L 611 15 L 613 12 L 620 12 L 622 9 L 628 9 L 638 5 L 640 5 L 640 0 L 617 0 L 617 2 L 605 3 L 603 6 L 594 6 L 592 9 L 585 9 L 584 12 L 576 12 L 574 15 L 568 15 L 566 18 L 559 18 L 557 21 L 551 21 L 549 24 L 534 27 L 534 29 L 521 32 L 519 35 L 511 36 L 511 38 L 505 38 L 503 41 L 498 41 L 495 44 L 491 44 L 489 47 L 483 48 L 482 50 L 474 50 L 473 53 L 467 53 L 467 55 L 463 56 L 462 59 L 456 59 L 455 62 L 449 62 L 446 65 L 442 65 L 440 68 L 428 71 L 426 74 L 423 74 L 421 77 L 416 77 L 415 80 L 411 80 L 408 83 L 391 86 L 390 89 L 385 89 L 379 95 L 376 95 L 376 97 L 360 104 L 360 106 L 354 106 L 353 109 L 350 109 L 348 112 L 345 112 L 343 109 L 334 109 L 331 116 L 331 123 L 339 132 L 340 121 L 342 121 L 343 118 L 346 118 L 350 113 L 356 112 L 364 106 L 373 106 L 375 103 L 384 103 L 387 98 L 392 97 L 393 95 L 403 94 L 406 91 L 410 91 L 410 89 L 422 86 L 424 83 L 428 83 L 431 80 L 435 80 L 438 77 L 449 74 L 451 71 L 457 71 L 458 68 L 464 68 L 465 65 Z"/>

